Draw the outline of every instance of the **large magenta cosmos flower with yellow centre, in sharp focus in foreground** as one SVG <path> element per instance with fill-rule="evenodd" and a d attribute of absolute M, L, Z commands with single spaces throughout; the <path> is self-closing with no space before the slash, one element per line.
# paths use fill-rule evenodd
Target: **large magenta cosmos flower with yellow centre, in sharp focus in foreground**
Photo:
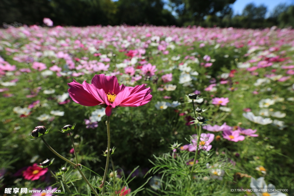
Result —
<path fill-rule="evenodd" d="M 137 107 L 145 105 L 152 99 L 150 87 L 144 84 L 135 87 L 119 86 L 116 76 L 95 75 L 91 84 L 80 84 L 75 80 L 69 85 L 69 96 L 78 104 L 85 106 L 101 105 L 106 108 L 107 116 L 116 106 Z"/>

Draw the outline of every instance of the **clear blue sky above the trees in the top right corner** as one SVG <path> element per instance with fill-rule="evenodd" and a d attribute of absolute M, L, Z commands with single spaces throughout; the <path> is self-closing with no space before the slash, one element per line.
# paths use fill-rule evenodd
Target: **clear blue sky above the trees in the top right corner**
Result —
<path fill-rule="evenodd" d="M 244 7 L 249 4 L 254 3 L 256 6 L 259 6 L 260 4 L 264 4 L 268 8 L 268 13 L 274 9 L 275 6 L 277 6 L 280 3 L 286 3 L 286 4 L 294 4 L 294 0 L 237 0 L 233 4 L 232 8 L 234 10 L 234 14 L 242 14 L 242 11 Z"/>

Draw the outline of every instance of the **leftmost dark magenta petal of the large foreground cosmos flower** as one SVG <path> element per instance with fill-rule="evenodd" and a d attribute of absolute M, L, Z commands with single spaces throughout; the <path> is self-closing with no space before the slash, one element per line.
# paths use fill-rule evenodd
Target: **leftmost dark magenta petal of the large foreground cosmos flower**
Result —
<path fill-rule="evenodd" d="M 75 80 L 71 83 L 68 83 L 69 85 L 69 96 L 74 100 L 74 102 L 85 105 L 85 106 L 94 106 L 98 105 L 101 102 L 98 101 L 92 94 L 88 93 L 84 88 L 83 85 L 76 82 Z"/>

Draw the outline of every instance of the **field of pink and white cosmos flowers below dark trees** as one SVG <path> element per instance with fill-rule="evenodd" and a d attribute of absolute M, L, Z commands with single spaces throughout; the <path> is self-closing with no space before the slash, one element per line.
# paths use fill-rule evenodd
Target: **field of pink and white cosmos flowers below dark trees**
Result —
<path fill-rule="evenodd" d="M 293 54 L 276 27 L 0 29 L 0 192 L 293 195 Z"/>

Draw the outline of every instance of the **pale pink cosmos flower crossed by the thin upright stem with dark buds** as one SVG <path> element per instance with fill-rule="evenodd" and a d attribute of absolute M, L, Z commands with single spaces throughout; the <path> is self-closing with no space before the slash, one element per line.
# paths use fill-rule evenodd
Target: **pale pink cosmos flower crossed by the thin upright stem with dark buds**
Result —
<path fill-rule="evenodd" d="M 193 137 L 192 143 L 189 145 L 189 148 L 188 148 L 190 152 L 196 151 L 196 148 L 197 148 L 197 135 L 194 134 L 192 135 L 192 137 Z M 212 148 L 212 145 L 210 145 L 210 143 L 213 141 L 213 139 L 214 139 L 214 134 L 201 133 L 198 148 L 201 150 L 209 151 Z"/>

